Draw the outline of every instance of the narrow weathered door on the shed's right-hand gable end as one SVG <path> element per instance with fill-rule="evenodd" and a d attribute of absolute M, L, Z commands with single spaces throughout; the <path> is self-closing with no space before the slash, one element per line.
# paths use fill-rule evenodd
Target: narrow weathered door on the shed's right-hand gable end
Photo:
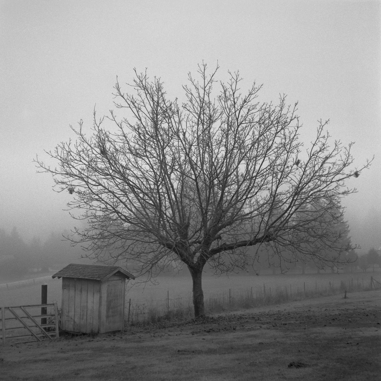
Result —
<path fill-rule="evenodd" d="M 123 291 L 121 279 L 107 281 L 106 332 L 123 329 Z"/>

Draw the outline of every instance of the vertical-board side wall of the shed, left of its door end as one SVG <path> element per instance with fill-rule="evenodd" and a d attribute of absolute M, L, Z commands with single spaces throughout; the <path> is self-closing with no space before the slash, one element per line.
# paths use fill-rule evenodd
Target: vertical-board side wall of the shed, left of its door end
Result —
<path fill-rule="evenodd" d="M 100 291 L 97 280 L 62 278 L 61 329 L 98 332 Z"/>

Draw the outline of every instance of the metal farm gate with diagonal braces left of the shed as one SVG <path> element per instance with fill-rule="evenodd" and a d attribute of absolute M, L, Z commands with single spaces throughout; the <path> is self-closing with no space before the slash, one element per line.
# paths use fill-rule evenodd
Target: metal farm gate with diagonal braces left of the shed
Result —
<path fill-rule="evenodd" d="M 3 344 L 58 338 L 57 304 L 2 307 L 0 324 Z"/>

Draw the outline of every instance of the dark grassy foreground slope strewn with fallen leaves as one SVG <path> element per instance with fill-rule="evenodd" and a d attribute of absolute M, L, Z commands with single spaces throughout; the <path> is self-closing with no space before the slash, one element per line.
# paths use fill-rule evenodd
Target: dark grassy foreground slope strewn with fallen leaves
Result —
<path fill-rule="evenodd" d="M 379 380 L 381 291 L 0 347 L 1 380 Z"/>

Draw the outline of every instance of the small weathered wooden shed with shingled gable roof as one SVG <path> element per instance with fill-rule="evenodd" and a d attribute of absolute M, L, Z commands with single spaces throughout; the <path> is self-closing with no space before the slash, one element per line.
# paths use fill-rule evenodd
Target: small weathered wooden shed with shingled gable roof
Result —
<path fill-rule="evenodd" d="M 69 264 L 62 277 L 61 329 L 74 333 L 123 330 L 125 281 L 135 279 L 121 267 Z"/>

